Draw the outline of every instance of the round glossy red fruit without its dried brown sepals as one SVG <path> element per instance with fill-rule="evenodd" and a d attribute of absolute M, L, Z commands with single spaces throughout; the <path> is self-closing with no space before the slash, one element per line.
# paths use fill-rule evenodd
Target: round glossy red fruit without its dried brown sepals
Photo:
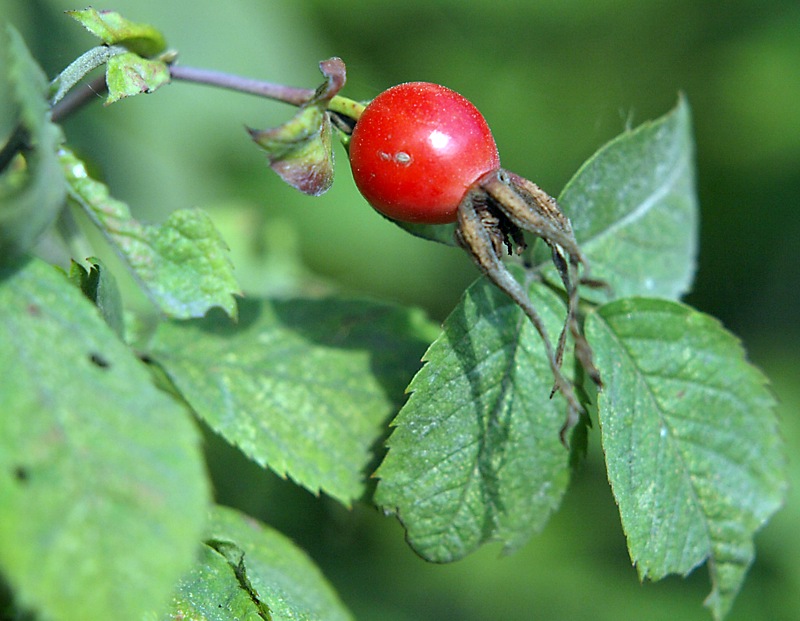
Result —
<path fill-rule="evenodd" d="M 467 189 L 500 167 L 489 125 L 455 91 L 409 82 L 378 95 L 350 140 L 353 178 L 382 214 L 403 222 L 456 219 Z"/>

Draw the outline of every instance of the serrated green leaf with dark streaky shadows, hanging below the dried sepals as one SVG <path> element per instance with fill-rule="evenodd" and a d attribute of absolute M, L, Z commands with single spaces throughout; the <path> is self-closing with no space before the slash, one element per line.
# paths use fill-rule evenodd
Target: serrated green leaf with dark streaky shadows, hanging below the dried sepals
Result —
<path fill-rule="evenodd" d="M 556 339 L 560 299 L 529 289 Z M 562 397 L 541 339 L 486 279 L 470 287 L 424 357 L 376 476 L 376 502 L 422 557 L 459 559 L 489 541 L 507 550 L 541 530 L 566 488 Z"/>

